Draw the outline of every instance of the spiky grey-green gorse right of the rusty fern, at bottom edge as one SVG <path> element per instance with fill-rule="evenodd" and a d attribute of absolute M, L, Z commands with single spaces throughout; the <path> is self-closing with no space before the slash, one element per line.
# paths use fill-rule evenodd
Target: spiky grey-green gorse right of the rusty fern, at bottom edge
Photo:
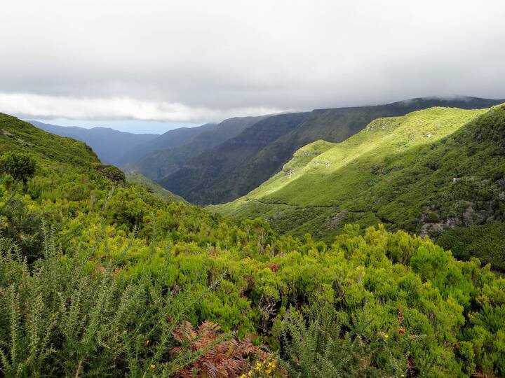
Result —
<path fill-rule="evenodd" d="M 408 337 L 393 341 L 384 333 L 370 335 L 365 318 L 349 318 L 324 305 L 306 320 L 290 309 L 283 334 L 283 360 L 290 375 L 408 377 Z"/>

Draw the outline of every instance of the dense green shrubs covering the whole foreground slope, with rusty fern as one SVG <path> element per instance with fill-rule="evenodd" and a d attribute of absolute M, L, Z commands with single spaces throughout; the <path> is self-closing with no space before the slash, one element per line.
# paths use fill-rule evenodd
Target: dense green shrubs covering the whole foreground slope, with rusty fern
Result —
<path fill-rule="evenodd" d="M 476 259 L 382 226 L 235 223 L 1 115 L 6 153 L 36 165 L 0 176 L 6 376 L 505 374 L 505 279 Z"/>

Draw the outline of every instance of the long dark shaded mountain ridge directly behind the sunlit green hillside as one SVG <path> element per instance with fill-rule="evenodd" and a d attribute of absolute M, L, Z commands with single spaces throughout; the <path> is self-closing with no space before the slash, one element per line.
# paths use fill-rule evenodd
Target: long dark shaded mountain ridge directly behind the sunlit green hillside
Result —
<path fill-rule="evenodd" d="M 375 118 L 404 116 L 431 106 L 482 109 L 501 102 L 476 97 L 426 97 L 379 106 L 318 109 L 309 113 L 274 116 L 190 159 L 177 172 L 159 182 L 189 202 L 229 202 L 280 171 L 298 148 L 318 139 L 344 141 L 363 130 Z"/>

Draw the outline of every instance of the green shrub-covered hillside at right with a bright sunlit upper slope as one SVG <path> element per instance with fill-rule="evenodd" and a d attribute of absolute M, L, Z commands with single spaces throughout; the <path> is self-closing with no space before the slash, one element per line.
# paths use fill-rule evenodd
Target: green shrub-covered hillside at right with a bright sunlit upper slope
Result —
<path fill-rule="evenodd" d="M 300 148 L 281 172 L 213 209 L 326 240 L 347 223 L 384 223 L 505 270 L 504 141 L 505 105 L 378 118 L 341 143 Z M 462 243 L 468 235 L 475 244 Z"/>

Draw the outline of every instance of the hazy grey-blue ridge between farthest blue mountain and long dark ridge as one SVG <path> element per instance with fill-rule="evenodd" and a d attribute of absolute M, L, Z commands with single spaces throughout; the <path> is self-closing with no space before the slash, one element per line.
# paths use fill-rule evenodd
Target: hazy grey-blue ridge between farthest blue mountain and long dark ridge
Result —
<path fill-rule="evenodd" d="M 163 177 L 176 172 L 194 156 L 222 144 L 267 117 L 269 116 L 236 117 L 224 120 L 218 125 L 212 125 L 212 127 L 196 128 L 199 131 L 197 134 L 191 135 L 184 141 L 178 141 L 177 144 L 173 143 L 175 140 L 173 135 L 170 136 L 170 139 L 163 139 L 164 134 L 149 143 L 151 146 L 156 144 L 156 151 L 145 154 L 137 162 L 127 165 L 125 169 L 126 171 L 140 172 L 149 179 L 163 179 Z M 131 155 L 138 155 L 138 153 L 133 152 Z"/>

